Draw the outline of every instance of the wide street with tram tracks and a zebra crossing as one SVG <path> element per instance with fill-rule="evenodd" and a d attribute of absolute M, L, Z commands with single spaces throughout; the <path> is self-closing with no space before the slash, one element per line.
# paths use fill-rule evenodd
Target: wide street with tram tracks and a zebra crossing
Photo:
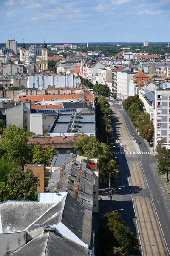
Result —
<path fill-rule="evenodd" d="M 109 102 L 113 134 L 120 141 L 113 152 L 121 170 L 121 177 L 112 183 L 112 189 L 121 188 L 113 191 L 112 208 L 124 209 L 122 217 L 139 238 L 141 255 L 170 255 L 170 198 L 164 180 L 157 174 L 153 149 L 137 134 L 122 105 Z"/>

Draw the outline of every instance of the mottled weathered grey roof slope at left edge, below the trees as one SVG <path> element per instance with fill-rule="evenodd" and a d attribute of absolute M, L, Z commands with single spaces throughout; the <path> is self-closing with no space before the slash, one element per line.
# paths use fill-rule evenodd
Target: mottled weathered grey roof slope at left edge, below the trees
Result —
<path fill-rule="evenodd" d="M 54 204 L 39 204 L 36 201 L 6 201 L 0 203 L 3 232 L 24 230 L 52 205 Z M 7 230 L 7 226 L 10 227 L 10 230 Z"/>

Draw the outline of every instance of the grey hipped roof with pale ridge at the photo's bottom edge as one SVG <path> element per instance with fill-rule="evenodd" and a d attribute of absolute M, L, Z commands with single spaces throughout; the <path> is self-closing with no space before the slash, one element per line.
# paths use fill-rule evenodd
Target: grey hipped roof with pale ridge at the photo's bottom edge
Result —
<path fill-rule="evenodd" d="M 89 250 L 55 233 L 37 236 L 11 255 L 15 256 L 88 256 Z"/>

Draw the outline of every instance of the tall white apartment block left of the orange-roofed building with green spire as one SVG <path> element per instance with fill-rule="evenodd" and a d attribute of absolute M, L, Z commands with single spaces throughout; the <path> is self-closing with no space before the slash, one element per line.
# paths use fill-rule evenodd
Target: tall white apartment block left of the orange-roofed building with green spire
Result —
<path fill-rule="evenodd" d="M 127 70 L 117 72 L 117 97 L 119 99 L 127 99 L 129 96 L 129 81 L 134 74 Z"/>

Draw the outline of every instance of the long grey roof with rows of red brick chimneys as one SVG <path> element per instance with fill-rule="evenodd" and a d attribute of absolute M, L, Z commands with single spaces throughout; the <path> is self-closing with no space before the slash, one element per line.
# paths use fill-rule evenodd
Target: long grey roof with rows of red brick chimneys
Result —
<path fill-rule="evenodd" d="M 68 175 L 71 171 L 70 180 Z M 77 201 L 85 206 L 87 209 L 93 208 L 93 190 L 94 190 L 94 172 L 85 166 L 82 166 L 81 177 L 79 177 L 79 163 L 74 162 L 65 165 L 64 174 L 60 179 L 60 168 L 55 170 L 48 182 L 46 192 L 54 192 L 56 182 L 59 181 L 59 192 L 68 192 L 74 197 L 74 181 L 79 179 L 79 190 Z M 68 188 L 66 188 L 68 184 Z"/>

